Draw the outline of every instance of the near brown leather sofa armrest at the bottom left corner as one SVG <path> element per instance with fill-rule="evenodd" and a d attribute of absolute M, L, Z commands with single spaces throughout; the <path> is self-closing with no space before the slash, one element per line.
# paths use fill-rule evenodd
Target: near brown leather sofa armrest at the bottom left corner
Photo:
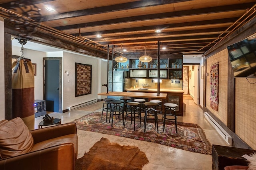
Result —
<path fill-rule="evenodd" d="M 1 170 L 74 170 L 73 144 L 56 145 L 0 160 Z"/>

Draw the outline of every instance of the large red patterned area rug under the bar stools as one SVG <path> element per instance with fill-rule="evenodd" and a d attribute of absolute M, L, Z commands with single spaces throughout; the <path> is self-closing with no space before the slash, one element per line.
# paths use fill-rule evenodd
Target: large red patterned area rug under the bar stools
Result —
<path fill-rule="evenodd" d="M 178 122 L 177 135 L 174 121 L 167 120 L 165 132 L 163 132 L 162 120 L 158 121 L 159 133 L 157 133 L 157 131 L 155 130 L 156 128 L 154 122 L 147 123 L 146 133 L 144 133 L 144 128 L 140 126 L 139 119 L 135 122 L 135 131 L 134 125 L 133 123 L 131 124 L 130 119 L 126 119 L 125 128 L 123 126 L 122 120 L 119 121 L 118 119 L 116 121 L 114 119 L 112 127 L 111 121 L 110 123 L 106 123 L 106 115 L 104 115 L 103 119 L 101 119 L 101 113 L 99 112 L 91 113 L 89 115 L 81 117 L 80 119 L 77 119 L 74 122 L 77 125 L 77 129 L 84 131 L 92 131 L 97 133 L 104 133 L 108 135 L 136 139 L 140 141 L 148 141 L 202 154 L 212 153 L 212 146 L 210 142 L 206 139 L 203 129 L 200 128 L 197 124 Z"/>

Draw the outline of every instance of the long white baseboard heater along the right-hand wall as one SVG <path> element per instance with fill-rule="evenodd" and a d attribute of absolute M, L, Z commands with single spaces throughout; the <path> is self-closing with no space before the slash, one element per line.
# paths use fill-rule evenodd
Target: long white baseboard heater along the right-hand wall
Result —
<path fill-rule="evenodd" d="M 221 135 L 221 137 L 228 143 L 232 145 L 232 137 L 209 115 L 209 113 L 204 112 L 206 119 L 212 124 L 216 131 Z"/>

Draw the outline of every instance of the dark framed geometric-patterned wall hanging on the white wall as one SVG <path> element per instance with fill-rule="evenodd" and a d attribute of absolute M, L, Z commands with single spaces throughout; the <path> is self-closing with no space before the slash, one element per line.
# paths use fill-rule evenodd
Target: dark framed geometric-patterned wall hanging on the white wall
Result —
<path fill-rule="evenodd" d="M 92 65 L 76 63 L 76 94 L 92 94 Z"/>

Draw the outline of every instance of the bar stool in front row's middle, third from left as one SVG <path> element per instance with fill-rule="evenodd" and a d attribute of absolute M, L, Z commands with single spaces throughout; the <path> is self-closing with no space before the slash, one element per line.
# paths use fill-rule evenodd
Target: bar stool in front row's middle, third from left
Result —
<path fill-rule="evenodd" d="M 132 124 L 132 118 L 133 118 L 134 131 L 135 131 L 135 117 L 140 117 L 140 126 L 141 126 L 141 115 L 140 115 L 139 111 L 137 111 L 138 113 L 136 113 L 134 107 L 140 107 L 140 103 L 139 102 L 128 102 L 126 104 L 127 104 L 127 106 L 130 107 L 130 111 L 131 112 L 128 113 L 127 112 L 128 107 L 126 107 L 126 115 L 125 115 L 125 119 L 124 119 L 124 127 L 125 127 L 126 117 L 130 117 L 131 118 L 131 124 Z"/>

